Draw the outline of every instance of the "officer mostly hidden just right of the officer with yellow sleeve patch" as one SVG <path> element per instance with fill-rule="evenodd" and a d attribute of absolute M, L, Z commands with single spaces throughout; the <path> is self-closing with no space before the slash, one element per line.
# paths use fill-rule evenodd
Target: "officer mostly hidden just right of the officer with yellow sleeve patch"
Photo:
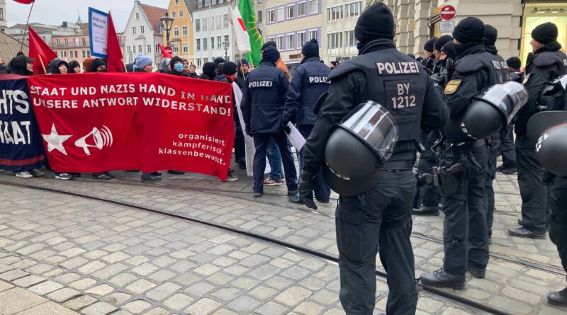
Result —
<path fill-rule="evenodd" d="M 498 78 L 498 83 L 508 81 L 510 76 L 508 75 L 508 65 L 503 59 L 498 55 L 498 50 L 496 49 L 496 39 L 498 38 L 498 30 L 492 25 L 486 24 L 484 31 L 484 50 L 489 52 L 494 57 L 494 67 L 498 69 L 496 74 L 500 76 Z M 504 129 L 505 130 L 505 129 Z M 500 132 L 494 134 L 493 137 L 488 138 L 488 164 L 487 172 L 485 177 L 485 187 L 484 187 L 484 208 L 486 212 L 486 225 L 488 229 L 488 242 L 492 242 L 492 225 L 494 222 L 494 188 L 493 183 L 496 179 L 496 159 L 498 158 L 498 151 L 500 151 Z"/>

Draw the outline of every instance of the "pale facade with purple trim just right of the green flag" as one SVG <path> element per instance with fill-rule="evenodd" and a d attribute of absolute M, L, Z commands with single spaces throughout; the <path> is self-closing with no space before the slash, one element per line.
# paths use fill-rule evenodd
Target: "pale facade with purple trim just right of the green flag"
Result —
<path fill-rule="evenodd" d="M 281 60 L 290 70 L 301 62 L 305 42 L 314 38 L 322 47 L 323 2 L 327 1 L 265 1 L 262 13 L 257 12 L 262 18 L 264 42 L 276 42 Z"/>

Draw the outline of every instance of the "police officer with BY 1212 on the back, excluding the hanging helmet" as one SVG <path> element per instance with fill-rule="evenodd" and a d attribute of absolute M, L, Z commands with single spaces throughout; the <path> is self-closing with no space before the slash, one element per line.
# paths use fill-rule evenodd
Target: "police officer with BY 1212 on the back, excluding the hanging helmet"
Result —
<path fill-rule="evenodd" d="M 378 173 L 378 184 L 359 195 L 339 197 L 337 247 L 341 288 L 347 314 L 372 314 L 376 302 L 376 253 L 388 272 L 387 314 L 415 314 L 417 291 L 410 212 L 415 196 L 412 165 L 423 128 L 439 128 L 447 108 L 430 76 L 416 60 L 395 50 L 393 16 L 377 3 L 361 14 L 354 28 L 359 56 L 330 74 L 329 94 L 303 147 L 300 193 L 312 205 L 316 174 L 325 159 L 333 126 L 359 103 L 375 101 L 394 116 L 399 137 Z M 345 156 L 348 163 L 349 156 Z"/>

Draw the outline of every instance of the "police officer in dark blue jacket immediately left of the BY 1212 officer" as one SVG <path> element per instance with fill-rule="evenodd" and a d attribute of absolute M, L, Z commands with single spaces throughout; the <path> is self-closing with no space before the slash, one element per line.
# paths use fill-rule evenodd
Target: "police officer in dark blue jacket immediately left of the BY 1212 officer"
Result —
<path fill-rule="evenodd" d="M 286 126 L 295 118 L 296 126 L 305 139 L 309 137 L 315 125 L 315 102 L 322 93 L 329 91 L 327 76 L 331 69 L 322 64 L 319 59 L 319 42 L 312 39 L 306 42 L 301 49 L 303 60 L 293 71 L 293 78 L 289 84 L 286 105 L 283 110 L 282 125 Z M 299 152 L 299 168 L 301 169 L 301 152 Z M 322 175 L 318 176 L 319 185 L 315 190 L 315 198 L 319 202 L 328 203 L 331 189 Z M 290 197 L 290 202 L 301 203 L 298 196 Z"/>

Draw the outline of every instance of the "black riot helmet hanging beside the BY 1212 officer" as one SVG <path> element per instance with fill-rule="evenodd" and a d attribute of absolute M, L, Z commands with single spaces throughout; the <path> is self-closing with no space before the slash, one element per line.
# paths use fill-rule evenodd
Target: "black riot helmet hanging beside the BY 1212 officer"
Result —
<path fill-rule="evenodd" d="M 332 190 L 349 196 L 378 183 L 378 170 L 398 141 L 392 115 L 374 101 L 345 116 L 327 139 L 323 176 Z"/>

